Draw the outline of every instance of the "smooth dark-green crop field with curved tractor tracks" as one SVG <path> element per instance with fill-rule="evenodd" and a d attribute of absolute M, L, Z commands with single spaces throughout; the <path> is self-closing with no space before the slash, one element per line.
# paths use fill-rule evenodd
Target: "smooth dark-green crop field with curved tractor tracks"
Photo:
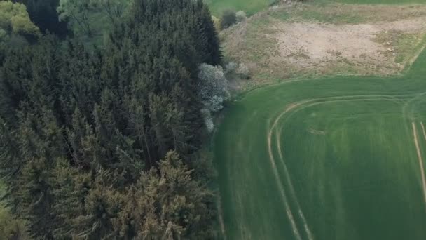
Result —
<path fill-rule="evenodd" d="M 426 239 L 425 66 L 240 95 L 214 138 L 226 239 Z"/>

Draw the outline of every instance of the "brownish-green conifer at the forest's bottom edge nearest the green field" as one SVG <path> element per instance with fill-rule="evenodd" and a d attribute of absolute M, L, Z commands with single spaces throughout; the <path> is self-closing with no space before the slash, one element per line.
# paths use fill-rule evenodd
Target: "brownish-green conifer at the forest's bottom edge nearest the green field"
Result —
<path fill-rule="evenodd" d="M 191 178 L 192 171 L 185 166 L 179 154 L 169 152 L 160 161 L 160 175 L 156 169 L 143 173 L 136 185 L 130 203 L 135 211 L 124 216 L 137 222 L 135 229 L 140 239 L 202 239 L 195 229 L 207 229 L 212 220 L 206 202 L 212 193 Z M 205 236 L 204 236 L 205 237 Z"/>

